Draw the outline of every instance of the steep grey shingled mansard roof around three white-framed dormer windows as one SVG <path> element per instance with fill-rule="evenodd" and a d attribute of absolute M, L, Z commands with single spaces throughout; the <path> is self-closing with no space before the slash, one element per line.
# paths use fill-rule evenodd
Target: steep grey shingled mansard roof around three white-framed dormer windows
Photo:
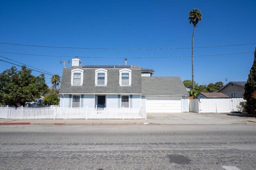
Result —
<path fill-rule="evenodd" d="M 129 67 L 129 66 L 127 66 Z M 84 70 L 84 80 L 82 86 L 71 86 L 71 70 L 79 68 Z M 141 70 L 138 66 L 130 66 L 128 69 L 132 70 L 132 84 L 131 86 L 119 86 L 119 70 L 122 68 L 106 67 L 107 74 L 107 86 L 95 86 L 95 70 L 104 67 L 95 66 L 71 66 L 63 69 L 62 81 L 60 85 L 60 94 L 69 93 L 92 93 L 92 94 L 141 94 Z"/>

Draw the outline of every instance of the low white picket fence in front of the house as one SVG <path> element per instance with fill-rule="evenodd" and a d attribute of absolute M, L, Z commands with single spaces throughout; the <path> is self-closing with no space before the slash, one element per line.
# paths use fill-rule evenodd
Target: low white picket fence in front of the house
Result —
<path fill-rule="evenodd" d="M 2 119 L 146 119 L 146 108 L 0 107 Z"/>

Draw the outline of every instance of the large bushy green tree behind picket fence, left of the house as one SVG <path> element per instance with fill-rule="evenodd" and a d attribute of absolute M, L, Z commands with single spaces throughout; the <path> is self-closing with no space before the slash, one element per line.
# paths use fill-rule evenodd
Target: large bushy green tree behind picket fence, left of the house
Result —
<path fill-rule="evenodd" d="M 47 89 L 44 74 L 33 76 L 26 66 L 19 71 L 11 67 L 0 74 L 0 103 L 4 105 L 24 106 L 25 102 L 40 98 Z"/>

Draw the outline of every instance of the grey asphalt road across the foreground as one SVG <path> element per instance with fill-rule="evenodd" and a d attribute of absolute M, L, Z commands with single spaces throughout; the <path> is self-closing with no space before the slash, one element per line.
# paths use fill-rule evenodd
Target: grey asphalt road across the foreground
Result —
<path fill-rule="evenodd" d="M 256 125 L 2 125 L 0 169 L 256 169 Z"/>

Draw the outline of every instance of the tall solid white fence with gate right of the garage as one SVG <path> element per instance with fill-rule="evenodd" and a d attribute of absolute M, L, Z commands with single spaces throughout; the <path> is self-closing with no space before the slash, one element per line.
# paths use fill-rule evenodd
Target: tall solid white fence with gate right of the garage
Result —
<path fill-rule="evenodd" d="M 189 111 L 196 113 L 238 111 L 238 106 L 241 106 L 243 102 L 245 102 L 243 98 L 192 99 L 189 100 Z"/>

